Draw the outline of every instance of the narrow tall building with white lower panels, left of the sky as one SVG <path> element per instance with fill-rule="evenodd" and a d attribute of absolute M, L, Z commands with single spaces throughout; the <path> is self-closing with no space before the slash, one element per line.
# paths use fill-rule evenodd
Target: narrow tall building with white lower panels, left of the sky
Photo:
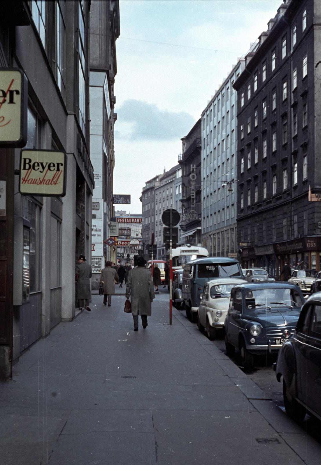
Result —
<path fill-rule="evenodd" d="M 112 180 L 114 154 L 114 95 L 117 74 L 116 39 L 119 37 L 119 1 L 97 0 L 90 10 L 90 146 L 95 188 L 92 199 L 92 289 L 98 289 L 106 259 L 116 261 L 109 247 L 113 214 Z M 114 252 L 114 253 L 112 253 Z"/>

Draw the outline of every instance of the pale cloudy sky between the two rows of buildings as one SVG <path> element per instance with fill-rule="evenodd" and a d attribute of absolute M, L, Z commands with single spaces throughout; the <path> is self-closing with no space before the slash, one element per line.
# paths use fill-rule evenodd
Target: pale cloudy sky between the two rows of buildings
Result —
<path fill-rule="evenodd" d="M 120 0 L 113 193 L 141 213 L 145 182 L 177 165 L 181 138 L 282 0 Z"/>

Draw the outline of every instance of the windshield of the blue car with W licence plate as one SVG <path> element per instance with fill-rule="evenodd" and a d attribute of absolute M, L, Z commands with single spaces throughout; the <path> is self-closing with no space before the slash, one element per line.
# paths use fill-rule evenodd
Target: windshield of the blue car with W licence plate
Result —
<path fill-rule="evenodd" d="M 291 307 L 303 305 L 299 291 L 287 288 L 269 288 L 249 291 L 245 294 L 245 306 L 255 313 L 266 312 L 267 309 L 284 307 L 288 311 Z"/>

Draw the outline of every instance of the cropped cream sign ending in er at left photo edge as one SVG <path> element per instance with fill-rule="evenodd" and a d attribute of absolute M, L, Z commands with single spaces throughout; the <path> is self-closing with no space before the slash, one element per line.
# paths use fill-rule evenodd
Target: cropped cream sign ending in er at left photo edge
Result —
<path fill-rule="evenodd" d="M 0 146 L 27 143 L 28 80 L 19 68 L 0 69 Z"/>

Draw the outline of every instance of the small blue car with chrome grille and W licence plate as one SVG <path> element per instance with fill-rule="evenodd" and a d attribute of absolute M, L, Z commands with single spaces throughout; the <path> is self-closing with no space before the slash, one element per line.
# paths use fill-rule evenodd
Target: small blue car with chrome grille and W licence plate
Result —
<path fill-rule="evenodd" d="M 233 288 L 224 323 L 228 355 L 239 349 L 242 365 L 250 369 L 254 355 L 277 353 L 294 334 L 303 303 L 301 289 L 286 282 Z"/>

